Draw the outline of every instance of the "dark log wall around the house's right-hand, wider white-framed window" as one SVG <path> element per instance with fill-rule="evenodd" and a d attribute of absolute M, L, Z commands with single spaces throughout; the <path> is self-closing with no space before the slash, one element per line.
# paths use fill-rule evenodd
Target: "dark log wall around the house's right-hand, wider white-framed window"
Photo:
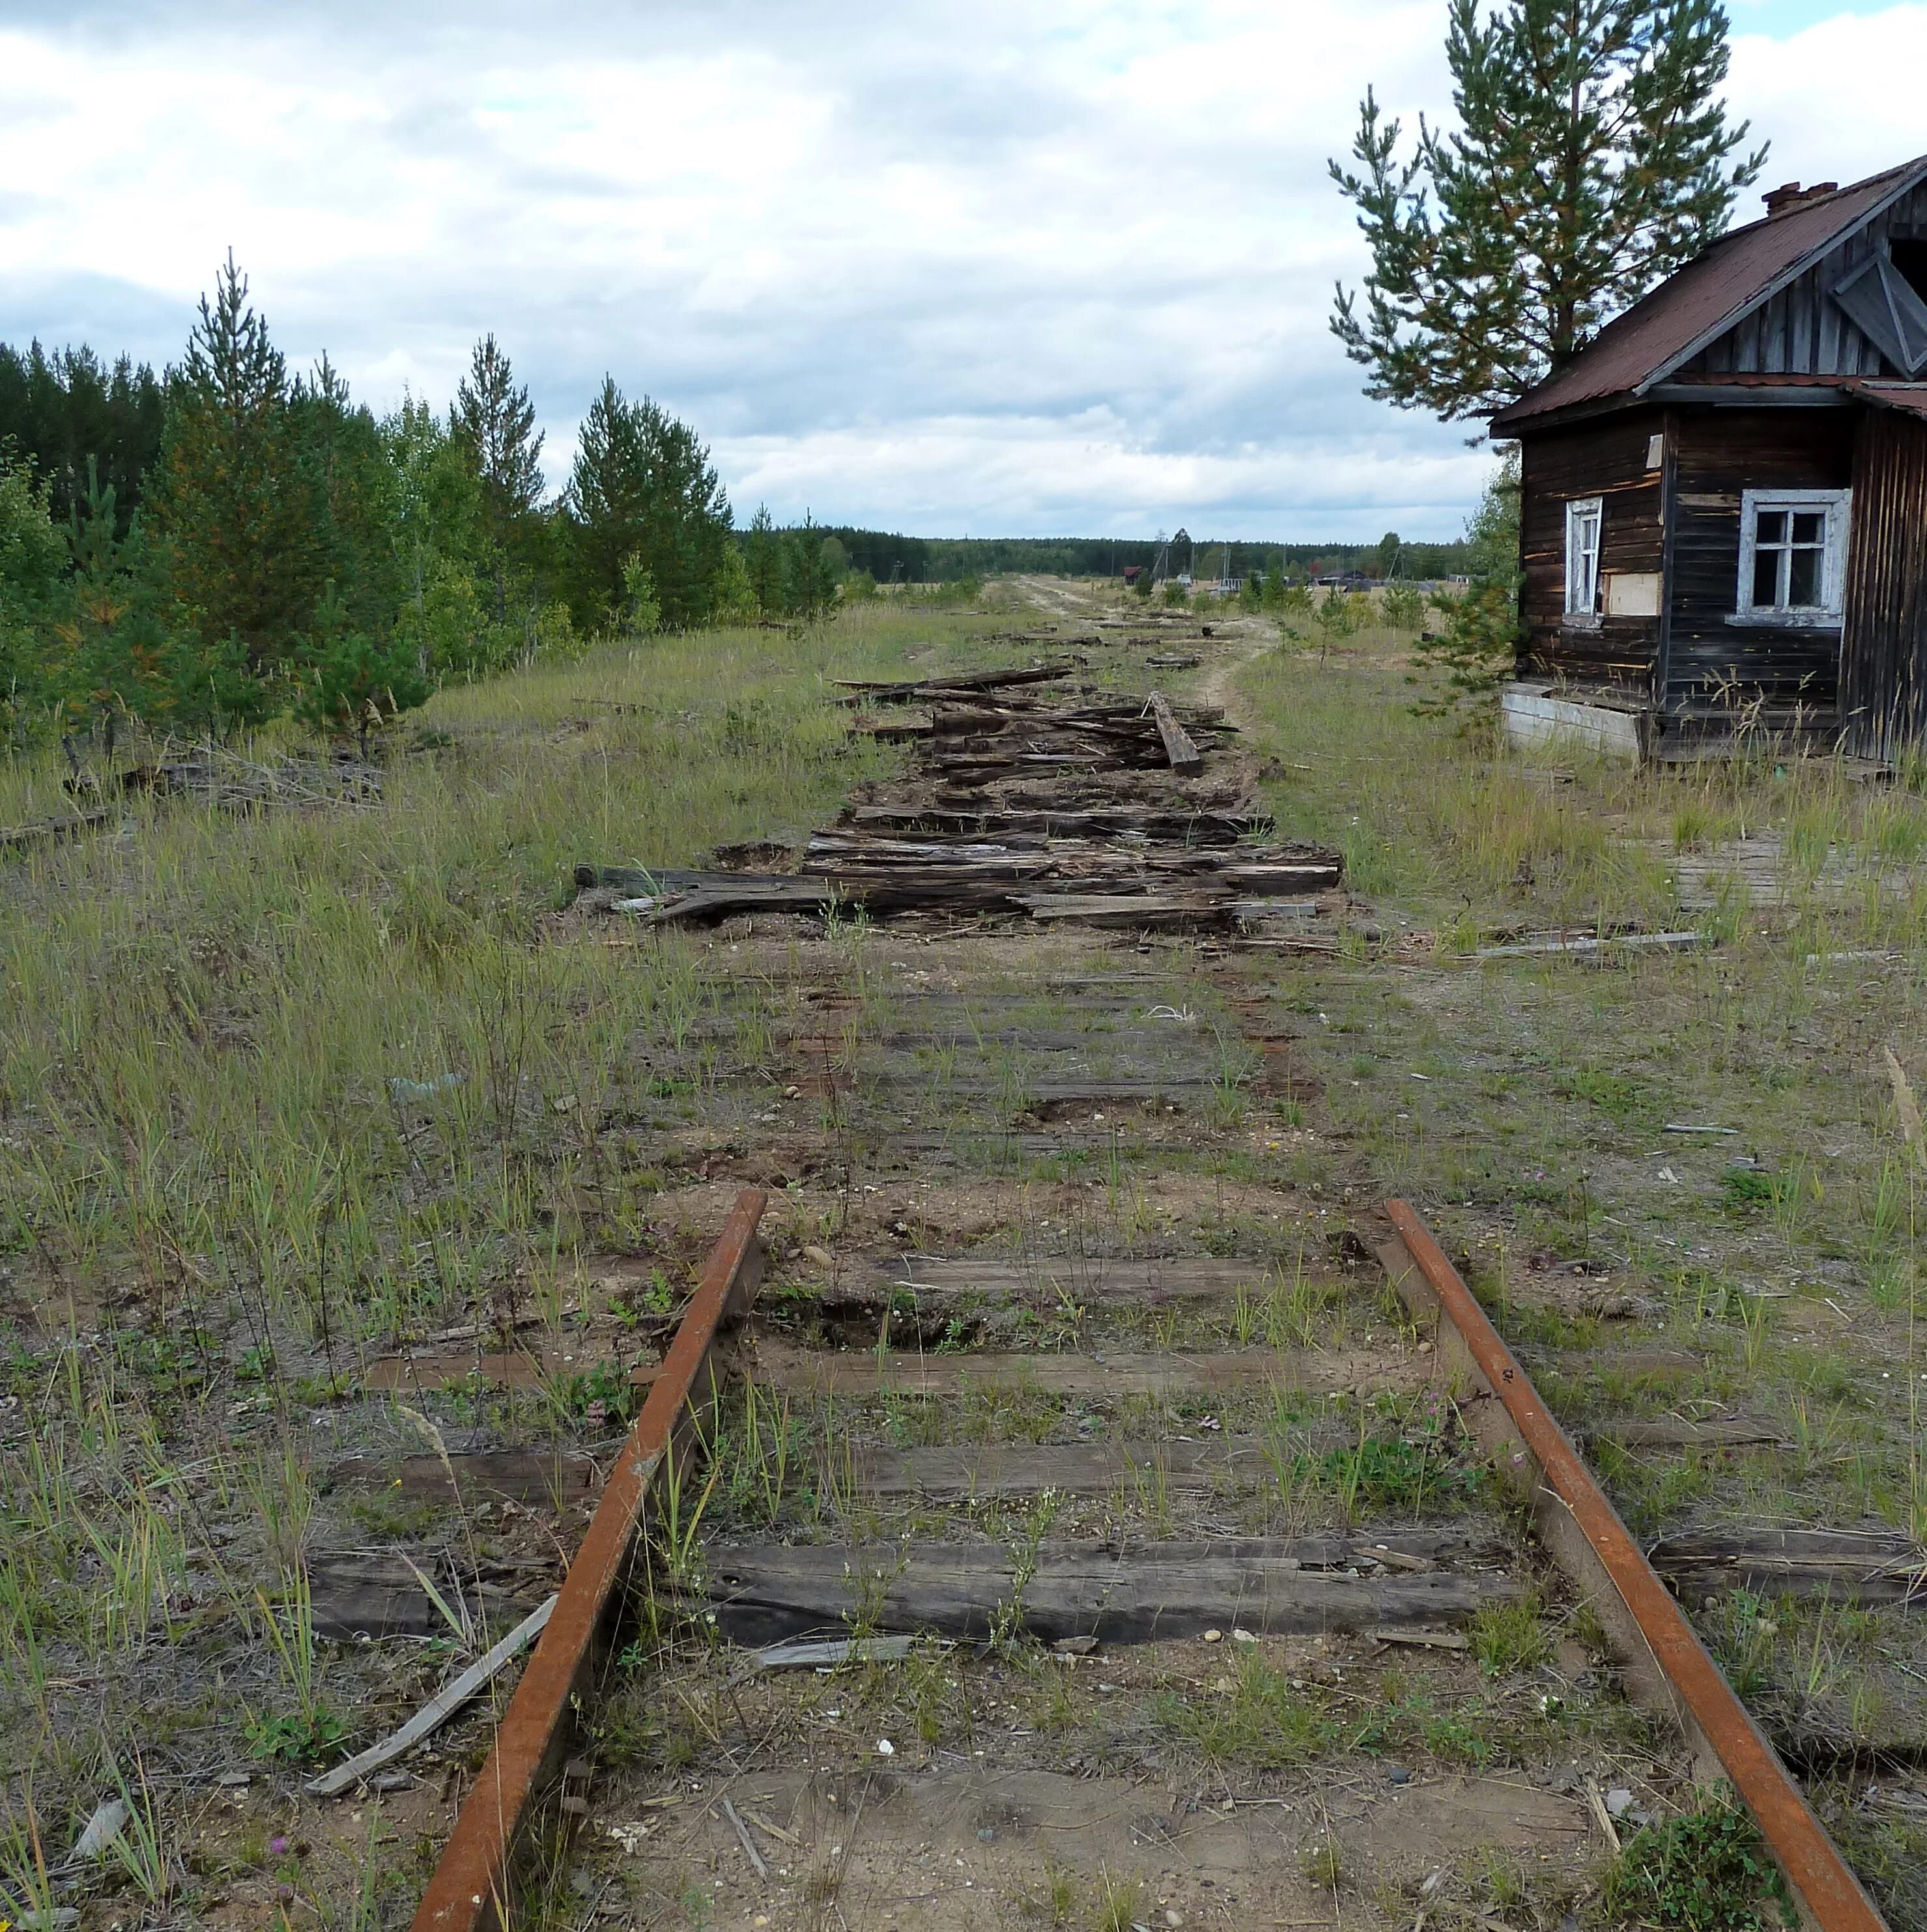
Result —
<path fill-rule="evenodd" d="M 1726 618 L 1740 603 L 1740 493 L 1844 489 L 1859 415 L 1857 408 L 1672 412 L 1668 713 L 1722 717 L 1755 703 L 1832 713 L 1838 630 L 1740 628 Z"/>

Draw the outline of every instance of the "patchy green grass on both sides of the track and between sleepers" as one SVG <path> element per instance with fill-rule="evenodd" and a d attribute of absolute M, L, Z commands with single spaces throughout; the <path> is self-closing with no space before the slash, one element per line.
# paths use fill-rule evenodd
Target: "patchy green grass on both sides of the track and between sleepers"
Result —
<path fill-rule="evenodd" d="M 327 1493 L 331 1430 L 348 1416 L 385 1416 L 408 1453 L 423 1447 L 400 1408 L 358 1399 L 367 1364 L 477 1318 L 528 1321 L 533 1343 L 561 1339 L 578 1260 L 611 1250 L 644 1262 L 617 1310 L 624 1345 L 640 1343 L 700 1254 L 696 1233 L 665 1227 L 663 1194 L 704 1171 L 700 1150 L 760 1146 L 756 1122 L 792 1076 L 791 1034 L 823 1026 L 781 960 L 717 972 L 731 935 L 568 918 L 572 866 L 688 864 L 719 842 L 821 823 L 893 759 L 847 738 L 845 715 L 825 703 L 831 680 L 1001 661 L 1011 647 L 982 641 L 997 622 L 1007 618 L 879 599 L 804 636 L 661 639 L 537 668 L 437 697 L 402 732 L 385 798 L 365 810 L 149 802 L 126 835 L 10 864 L 0 1264 L 19 1320 L 0 1329 L 0 1395 L 17 1397 L 33 1426 L 8 1424 L 0 1443 L 0 1891 L 19 1911 L 37 1909 L 37 1843 L 56 1859 L 114 1768 L 135 1766 L 126 1739 L 141 1739 L 145 1766 L 128 1776 L 153 1774 L 141 1791 L 157 1833 L 135 1847 L 141 1872 L 128 1884 L 174 1888 L 170 1909 L 193 1911 L 205 1874 L 182 1851 L 178 1779 L 160 1770 L 240 1762 L 253 1745 L 263 1779 L 292 1777 L 296 1764 L 367 1741 L 445 1675 L 452 1634 L 406 1652 L 313 1634 L 305 1555 L 323 1532 L 495 1551 L 487 1524 L 437 1520 L 379 1490 Z M 1088 1159 L 1026 1165 L 992 1148 L 959 1169 L 993 1175 L 1013 1204 L 1005 1229 L 1022 1233 L 1001 1235 L 999 1254 L 1030 1252 L 1032 1184 L 1080 1180 L 1092 1231 L 1131 1252 L 1251 1258 L 1249 1285 L 1210 1314 L 1138 1312 L 1125 1333 L 1071 1281 L 1015 1345 L 1366 1345 L 1394 1325 L 1376 1277 L 1357 1293 L 1322 1244 L 1351 1204 L 1397 1186 L 1473 1256 L 1481 1294 L 1562 1412 L 1743 1395 L 1749 1412 L 1784 1418 L 1792 1455 L 1602 1451 L 1641 1532 L 1707 1509 L 1927 1520 L 1927 1480 L 1906 1447 L 1915 1383 L 1900 1366 L 1919 1281 L 1919 1167 L 1879 1063 L 1896 1041 L 1915 1078 L 1927 1074 L 1908 1045 L 1919 983 L 1906 964 L 1826 958 L 1919 933 L 1912 885 L 1869 885 L 1927 852 L 1919 802 L 1859 794 L 1825 771 L 1683 782 L 1575 767 L 1571 784 L 1548 784 L 1411 717 L 1401 678 L 1366 634 L 1322 665 L 1266 655 L 1243 680 L 1258 713 L 1249 740 L 1281 759 L 1270 786 L 1280 829 L 1343 846 L 1368 902 L 1337 960 L 1276 974 L 1264 962 L 1262 989 L 1303 1036 L 1295 1065 L 1326 1097 L 1247 1115 L 1239 1028 L 1202 974 L 1177 983 L 1189 962 L 1173 954 L 1171 987 L 1150 997 L 1196 1007 L 1187 1037 L 1212 1080 L 1198 1130 L 1181 1128 L 1154 1157 L 1113 1136 Z M 0 804 L 6 823 L 62 810 L 56 763 L 0 771 Z M 1730 904 L 1718 914 L 1728 945 L 1714 952 L 1600 974 L 1461 960 L 1508 925 L 1666 922 L 1676 854 L 1761 825 L 1784 831 L 1788 902 L 1770 920 Z M 1842 867 L 1857 896 L 1828 883 Z M 1399 923 L 1434 935 L 1430 960 L 1423 949 L 1409 966 L 1370 956 L 1365 929 Z M 1017 958 L 986 974 L 982 1012 L 976 993 L 963 1009 L 982 1037 L 964 1026 L 955 1049 L 905 1055 L 928 1084 L 903 1103 L 916 1124 L 953 1148 L 970 1136 L 992 1146 L 1038 1065 L 1007 1037 L 1015 1028 L 1082 1030 L 1092 1066 L 1136 1065 L 1140 1045 L 1111 1043 L 1071 976 L 1142 970 L 1119 952 L 1059 960 L 1051 983 Z M 823 1097 L 820 1124 L 843 1177 L 798 1182 L 781 1211 L 800 1238 L 841 1246 L 852 1200 L 862 1206 L 856 1173 L 910 1124 L 885 1109 L 893 1090 L 879 1070 L 891 1032 L 914 1030 L 922 1009 L 877 970 L 860 922 L 833 935 L 829 956 L 848 993 L 829 1026 L 854 1084 Z M 932 949 L 930 964 L 947 970 L 951 956 Z M 1173 1034 L 1173 1065 L 1183 1051 Z M 1682 1119 L 1740 1134 L 1666 1136 Z M 1266 1146 L 1266 1132 L 1280 1138 Z M 1740 1153 L 1755 1165 L 1730 1165 Z M 1658 1180 L 1668 1163 L 1678 1184 Z M 1160 1180 L 1189 1184 L 1181 1209 L 1160 1206 Z M 1237 1188 L 1243 1204 L 1227 1198 Z M 1281 1198 L 1281 1219 L 1252 1206 Z M 906 1244 L 947 1238 L 941 1221 L 932 1240 L 912 1227 L 920 1209 L 905 1213 Z M 1075 1248 L 1082 1233 L 1061 1221 L 1050 1246 Z M 1622 1323 L 1585 1308 L 1593 1277 L 1562 1275 L 1571 1260 L 1610 1271 L 1649 1312 Z M 806 1294 L 785 1300 L 792 1285 L 779 1262 L 765 1287 L 777 1321 L 791 1302 L 808 1310 Z M 893 1312 L 891 1349 L 918 1341 L 903 1327 L 914 1320 L 914 1308 Z M 1618 1366 L 1631 1345 L 1678 1360 Z M 937 1354 L 945 1341 L 922 1347 Z M 1884 1385 L 1883 1370 L 1894 1370 Z M 431 1432 L 472 1428 L 510 1445 L 605 1441 L 634 1401 L 618 1372 L 582 1370 L 522 1391 L 450 1385 L 419 1414 Z M 1187 1511 L 1276 1534 L 1438 1517 L 1482 1493 L 1450 1412 L 1409 1401 L 1227 1391 L 1100 1403 L 1022 1379 L 972 1379 L 945 1401 L 758 1395 L 725 1403 L 719 1474 L 690 1486 L 659 1555 L 690 1573 L 715 1528 L 862 1542 L 945 1534 L 964 1519 L 1034 1555 L 1042 1530 L 1024 1505 L 877 1511 L 858 1493 L 858 1453 L 1144 1439 L 1206 1420 L 1260 1435 L 1262 1493 L 1185 1499 L 1148 1472 L 1133 1493 L 1067 1499 L 1053 1534 Z M 1021 1602 L 1011 1607 L 1015 1625 Z M 1811 1692 L 1867 1718 L 1886 1625 L 1855 1615 L 1790 1617 L 1798 1677 L 1792 1663 L 1763 1663 L 1761 1694 Z M 651 1625 L 649 1640 L 663 1629 Z M 1757 1642 L 1740 1625 L 1724 1634 L 1741 1662 Z M 1548 1644 L 1537 1605 L 1488 1611 L 1473 1636 L 1477 1679 L 1467 1667 L 1452 1685 L 1405 1683 L 1372 1708 L 1225 1646 L 1229 1689 L 1154 1698 L 1148 1727 L 1179 1756 L 1291 1774 L 1394 1750 L 1519 1764 L 1606 1723 L 1533 1714 Z M 636 1662 L 655 1656 L 638 1650 Z M 877 1735 L 970 1748 L 978 1667 L 932 1658 L 866 1679 L 860 1698 L 847 1681 L 810 1694 L 848 1692 Z M 995 1669 L 1011 1673 L 1038 1737 L 1067 1750 L 1123 1721 L 1104 1716 L 1119 1704 L 1022 1646 Z M 609 1764 L 694 1766 L 740 1721 L 721 1679 L 678 1702 L 665 1675 L 622 1675 L 597 1712 Z M 1144 1727 L 1142 1710 L 1131 1723 Z M 1131 1766 L 1138 1743 L 1115 1743 Z M 311 1866 L 302 1897 L 313 1891 L 325 1922 L 373 1924 L 373 1857 L 338 1864 L 327 1886 Z M 1088 1920 L 1102 1899 L 1080 1889 L 1065 1909 Z"/>

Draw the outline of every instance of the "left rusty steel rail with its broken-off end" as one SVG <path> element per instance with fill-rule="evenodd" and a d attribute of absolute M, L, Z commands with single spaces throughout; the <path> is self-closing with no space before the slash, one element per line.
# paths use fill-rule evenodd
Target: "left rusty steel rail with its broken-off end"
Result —
<path fill-rule="evenodd" d="M 590 1689 L 649 1495 L 659 1482 L 680 1480 L 686 1468 L 686 1459 L 680 1459 L 682 1468 L 676 1466 L 673 1445 L 686 1430 L 692 1405 L 715 1391 L 717 1335 L 744 1314 L 756 1293 L 762 1275 L 756 1225 L 767 1204 L 758 1188 L 736 1196 L 723 1238 L 704 1264 L 649 1399 L 568 1565 L 549 1627 L 516 1685 L 489 1762 L 454 1822 L 412 1932 L 501 1932 L 510 1922 L 512 1866 L 522 1833 L 566 1756 L 572 1716 Z"/>

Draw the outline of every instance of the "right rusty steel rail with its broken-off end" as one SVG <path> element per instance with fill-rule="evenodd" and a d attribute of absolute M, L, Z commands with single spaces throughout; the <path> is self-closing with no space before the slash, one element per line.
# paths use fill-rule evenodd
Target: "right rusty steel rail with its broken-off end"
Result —
<path fill-rule="evenodd" d="M 1591 1598 L 1625 1665 L 1627 1690 L 1680 1725 L 1695 1770 L 1732 1779 L 1809 1926 L 1886 1932 L 1778 1752 L 1734 1696 L 1432 1231 L 1407 1202 L 1386 1202 L 1386 1213 L 1397 1240 L 1380 1244 L 1378 1258 L 1392 1285 L 1415 1316 L 1442 1318 L 1440 1352 L 1450 1349 L 1479 1391 L 1502 1405 L 1502 1410 L 1490 1403 L 1467 1405 L 1469 1422 L 1529 1495 L 1542 1542 Z"/>

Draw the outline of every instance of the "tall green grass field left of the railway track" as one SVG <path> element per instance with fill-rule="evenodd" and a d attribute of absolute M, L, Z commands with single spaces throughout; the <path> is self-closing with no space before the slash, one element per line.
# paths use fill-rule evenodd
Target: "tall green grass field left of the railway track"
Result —
<path fill-rule="evenodd" d="M 0 1397 L 33 1428 L 0 1445 L 0 1785 L 39 1818 L 0 1818 L 12 1893 L 35 1832 L 64 1847 L 97 1803 L 102 1741 L 315 1762 L 433 1687 L 446 1646 L 371 1675 L 315 1636 L 331 1412 L 396 1341 L 477 1312 L 559 1333 L 578 1254 L 657 1238 L 665 1177 L 626 1122 L 715 1113 L 719 1037 L 740 1084 L 783 1010 L 719 991 L 700 939 L 562 920 L 572 867 L 802 835 L 895 755 L 847 734 L 831 680 L 970 657 L 982 628 L 879 599 L 609 649 L 443 692 L 377 804 L 143 800 L 120 835 L 8 860 Z M 282 750 L 311 752 L 245 748 Z M 0 819 L 64 810 L 60 769 L 0 767 Z M 431 1406 L 553 1439 L 618 1428 L 634 1391 L 584 1372 Z M 744 1513 L 794 1482 L 787 1420 L 752 1428 Z M 348 1540 L 410 1534 L 377 1497 L 329 1507 Z"/>

